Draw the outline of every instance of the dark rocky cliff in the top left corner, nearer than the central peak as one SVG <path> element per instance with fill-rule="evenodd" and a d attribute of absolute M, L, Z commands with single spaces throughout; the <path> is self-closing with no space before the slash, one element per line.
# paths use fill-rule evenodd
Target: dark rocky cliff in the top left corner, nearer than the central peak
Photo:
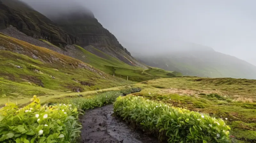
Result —
<path fill-rule="evenodd" d="M 27 4 L 18 0 L 0 0 L 0 30 L 10 25 L 28 36 L 50 41 L 59 47 L 79 42 L 75 36 L 60 29 Z"/>

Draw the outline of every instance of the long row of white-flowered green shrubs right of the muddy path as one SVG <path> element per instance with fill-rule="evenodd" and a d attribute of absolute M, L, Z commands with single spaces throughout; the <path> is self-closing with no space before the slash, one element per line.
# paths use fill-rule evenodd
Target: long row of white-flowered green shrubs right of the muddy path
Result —
<path fill-rule="evenodd" d="M 116 115 L 136 123 L 145 132 L 168 142 L 228 143 L 229 126 L 216 119 L 187 109 L 128 95 L 114 103 Z"/>

